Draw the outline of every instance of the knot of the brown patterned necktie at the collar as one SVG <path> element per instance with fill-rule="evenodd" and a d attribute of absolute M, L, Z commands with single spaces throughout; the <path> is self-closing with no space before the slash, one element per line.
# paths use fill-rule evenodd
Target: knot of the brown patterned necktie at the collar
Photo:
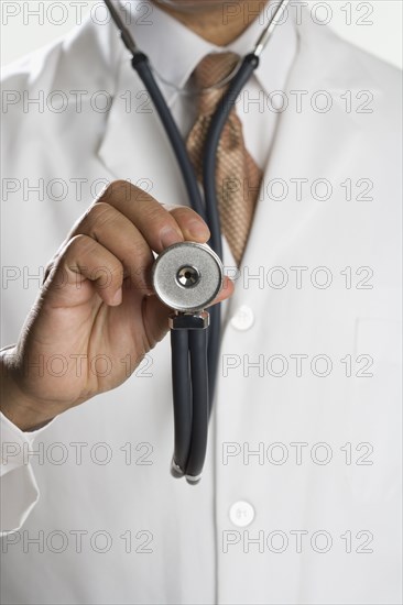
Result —
<path fill-rule="evenodd" d="M 199 114 L 214 113 L 228 88 L 228 84 L 220 86 L 220 82 L 233 72 L 238 61 L 239 56 L 236 53 L 210 53 L 197 65 L 193 77 L 199 90 Z"/>

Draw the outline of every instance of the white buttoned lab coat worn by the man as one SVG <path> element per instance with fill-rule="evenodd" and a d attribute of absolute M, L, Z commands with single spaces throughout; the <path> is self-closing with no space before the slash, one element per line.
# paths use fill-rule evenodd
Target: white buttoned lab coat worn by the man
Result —
<path fill-rule="evenodd" d="M 304 15 L 227 308 L 202 483 L 168 473 L 168 339 L 123 386 L 39 431 L 37 455 L 24 460 L 32 438 L 8 426 L 4 603 L 400 602 L 399 79 Z M 14 67 L 3 89 L 45 102 L 50 91 L 88 91 L 81 111 L 61 113 L 22 113 L 8 98 L 10 344 L 39 267 L 105 180 L 128 178 L 168 204 L 186 195 L 154 112 L 88 105 L 99 90 L 143 90 L 111 24 L 86 22 Z M 328 112 L 311 105 L 323 107 L 323 90 Z M 40 178 L 43 200 L 26 190 Z"/>

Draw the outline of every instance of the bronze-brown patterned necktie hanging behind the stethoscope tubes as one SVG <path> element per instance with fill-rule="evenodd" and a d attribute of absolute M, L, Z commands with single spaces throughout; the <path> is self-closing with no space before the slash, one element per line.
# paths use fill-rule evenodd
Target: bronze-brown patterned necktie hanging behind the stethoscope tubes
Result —
<path fill-rule="evenodd" d="M 210 87 L 233 70 L 238 58 L 235 53 L 213 53 L 200 61 L 193 74 L 195 86 L 197 90 L 202 89 L 202 92 L 198 100 L 198 118 L 187 138 L 187 151 L 199 180 L 203 146 L 211 116 L 228 86 Z M 244 146 L 242 124 L 232 109 L 217 150 L 216 187 L 221 231 L 238 266 L 247 245 L 261 180 L 262 170 Z"/>

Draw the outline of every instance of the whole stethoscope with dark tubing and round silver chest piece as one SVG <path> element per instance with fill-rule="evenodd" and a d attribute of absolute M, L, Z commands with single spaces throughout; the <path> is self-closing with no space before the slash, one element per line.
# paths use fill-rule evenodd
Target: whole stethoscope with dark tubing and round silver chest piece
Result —
<path fill-rule="evenodd" d="M 220 340 L 220 305 L 206 311 L 222 287 L 224 268 L 220 219 L 216 199 L 216 152 L 222 128 L 237 97 L 259 65 L 260 55 L 290 0 L 279 0 L 254 48 L 240 59 L 228 89 L 211 118 L 204 147 L 204 202 L 185 143 L 156 84 L 149 59 L 124 25 L 112 0 L 104 0 L 131 53 L 131 65 L 148 94 L 171 142 L 192 208 L 210 230 L 209 245 L 195 242 L 164 250 L 153 267 L 153 286 L 160 299 L 173 309 L 170 319 L 174 400 L 174 454 L 171 471 L 198 483 L 206 458 L 208 420 L 215 393 Z M 224 82 L 220 82 L 224 85 Z"/>

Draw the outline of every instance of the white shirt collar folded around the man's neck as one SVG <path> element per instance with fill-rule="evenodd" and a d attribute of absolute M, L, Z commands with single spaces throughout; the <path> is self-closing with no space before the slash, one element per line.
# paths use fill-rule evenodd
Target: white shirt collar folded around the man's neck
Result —
<path fill-rule="evenodd" d="M 264 28 L 265 16 L 270 16 L 268 4 L 266 14 L 255 19 L 231 44 L 220 47 L 202 38 L 149 0 L 130 0 L 130 4 L 121 2 L 126 7 L 126 24 L 137 45 L 149 56 L 168 102 L 176 97 L 178 89 L 185 87 L 197 64 L 209 53 L 232 51 L 243 56 L 251 52 Z M 148 9 L 145 13 L 144 7 Z M 284 89 L 297 46 L 296 26 L 288 13 L 284 23 L 274 30 L 254 72 L 266 94 Z"/>

